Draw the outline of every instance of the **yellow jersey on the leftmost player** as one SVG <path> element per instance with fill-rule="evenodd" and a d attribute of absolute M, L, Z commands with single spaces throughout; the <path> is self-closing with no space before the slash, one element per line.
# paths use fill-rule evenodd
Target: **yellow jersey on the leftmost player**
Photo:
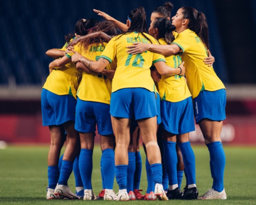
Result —
<path fill-rule="evenodd" d="M 72 41 L 71 39 L 70 41 Z M 66 43 L 62 50 L 66 50 Z M 81 81 L 82 72 L 76 69 L 74 63 L 70 62 L 62 68 L 53 68 L 46 79 L 43 88 L 56 95 L 72 95 L 76 98 L 78 85 Z"/>

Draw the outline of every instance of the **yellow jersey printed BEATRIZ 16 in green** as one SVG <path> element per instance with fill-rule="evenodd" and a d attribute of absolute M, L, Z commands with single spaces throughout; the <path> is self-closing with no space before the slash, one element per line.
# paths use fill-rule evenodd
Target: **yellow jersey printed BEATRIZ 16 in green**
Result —
<path fill-rule="evenodd" d="M 164 56 L 146 51 L 137 55 L 127 53 L 127 46 L 135 42 L 159 44 L 155 38 L 144 33 L 146 38 L 138 32 L 125 35 L 117 35 L 107 44 L 100 58 L 109 62 L 117 59 L 117 68 L 112 81 L 112 92 L 123 88 L 145 88 L 155 92 L 155 85 L 150 75 L 150 67 L 153 63 L 164 61 Z"/>

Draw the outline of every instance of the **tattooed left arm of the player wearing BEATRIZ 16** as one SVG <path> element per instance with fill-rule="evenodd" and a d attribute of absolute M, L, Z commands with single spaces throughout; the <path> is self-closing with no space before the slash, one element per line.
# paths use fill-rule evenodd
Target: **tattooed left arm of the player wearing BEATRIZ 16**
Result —
<path fill-rule="evenodd" d="M 72 55 L 71 57 L 73 63 L 76 64 L 77 62 L 81 62 L 82 64 L 84 64 L 85 67 L 96 73 L 102 72 L 110 63 L 107 59 L 104 58 L 100 58 L 97 61 L 89 60 L 86 57 L 82 56 L 80 53 L 77 53 L 74 50 L 72 51 L 74 52 L 74 55 Z"/>

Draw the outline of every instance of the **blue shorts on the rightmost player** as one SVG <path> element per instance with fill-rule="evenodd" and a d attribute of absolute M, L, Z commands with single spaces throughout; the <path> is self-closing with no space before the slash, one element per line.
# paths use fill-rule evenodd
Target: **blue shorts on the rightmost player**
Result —
<path fill-rule="evenodd" d="M 207 118 L 213 121 L 226 119 L 226 89 L 216 91 L 204 90 L 194 98 L 194 115 L 196 123 Z"/>

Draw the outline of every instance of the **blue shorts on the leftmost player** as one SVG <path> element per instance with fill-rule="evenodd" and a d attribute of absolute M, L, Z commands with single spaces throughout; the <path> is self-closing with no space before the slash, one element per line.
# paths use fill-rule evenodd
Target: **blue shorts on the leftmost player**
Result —
<path fill-rule="evenodd" d="M 77 100 L 72 95 L 56 95 L 43 88 L 41 109 L 43 126 L 62 125 L 69 120 L 75 121 Z"/>

